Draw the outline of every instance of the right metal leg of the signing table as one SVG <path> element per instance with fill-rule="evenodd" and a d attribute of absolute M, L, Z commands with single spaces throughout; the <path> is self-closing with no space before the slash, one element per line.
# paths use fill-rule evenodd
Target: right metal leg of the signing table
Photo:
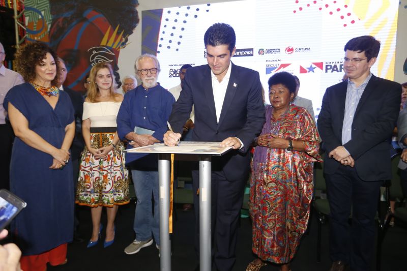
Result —
<path fill-rule="evenodd" d="M 211 156 L 199 157 L 199 264 L 211 271 Z"/>

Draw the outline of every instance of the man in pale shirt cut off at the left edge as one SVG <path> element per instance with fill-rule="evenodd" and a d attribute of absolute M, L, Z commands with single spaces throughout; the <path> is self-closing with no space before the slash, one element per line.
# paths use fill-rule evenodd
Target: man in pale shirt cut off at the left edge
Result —
<path fill-rule="evenodd" d="M 6 51 L 3 44 L 0 43 L 0 189 L 10 189 L 9 168 L 11 149 L 13 147 L 14 133 L 10 123 L 6 122 L 7 112 L 4 110 L 3 101 L 10 88 L 15 85 L 24 83 L 21 75 L 15 71 L 7 69 L 3 62 L 6 59 Z"/>

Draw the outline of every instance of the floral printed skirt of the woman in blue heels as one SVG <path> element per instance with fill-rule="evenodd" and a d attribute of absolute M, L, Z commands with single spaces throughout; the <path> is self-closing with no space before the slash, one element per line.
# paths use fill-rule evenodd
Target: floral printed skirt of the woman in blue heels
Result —
<path fill-rule="evenodd" d="M 91 145 L 101 148 L 111 144 L 114 132 L 93 133 Z M 122 141 L 105 159 L 95 159 L 86 146 L 83 149 L 76 191 L 76 203 L 91 207 L 129 203 L 129 178 L 125 167 Z"/>

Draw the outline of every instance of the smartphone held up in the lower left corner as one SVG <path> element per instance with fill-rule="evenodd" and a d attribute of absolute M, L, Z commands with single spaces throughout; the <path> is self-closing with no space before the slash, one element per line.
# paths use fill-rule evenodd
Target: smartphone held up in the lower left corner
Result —
<path fill-rule="evenodd" d="M 0 190 L 0 231 L 9 225 L 26 205 L 27 203 L 10 191 Z"/>

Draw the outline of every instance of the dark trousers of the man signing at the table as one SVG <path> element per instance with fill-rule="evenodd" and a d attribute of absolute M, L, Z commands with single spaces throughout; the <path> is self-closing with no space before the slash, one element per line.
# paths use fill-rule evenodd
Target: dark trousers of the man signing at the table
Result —
<path fill-rule="evenodd" d="M 214 164 L 214 163 L 212 163 Z M 246 178 L 227 180 L 223 171 L 212 171 L 212 255 L 219 271 L 232 270 L 236 262 L 236 244 Z M 192 171 L 195 209 L 195 251 L 199 259 L 199 171 Z M 215 245 L 215 246 L 214 246 Z M 216 249 L 215 249 L 216 248 Z"/>

